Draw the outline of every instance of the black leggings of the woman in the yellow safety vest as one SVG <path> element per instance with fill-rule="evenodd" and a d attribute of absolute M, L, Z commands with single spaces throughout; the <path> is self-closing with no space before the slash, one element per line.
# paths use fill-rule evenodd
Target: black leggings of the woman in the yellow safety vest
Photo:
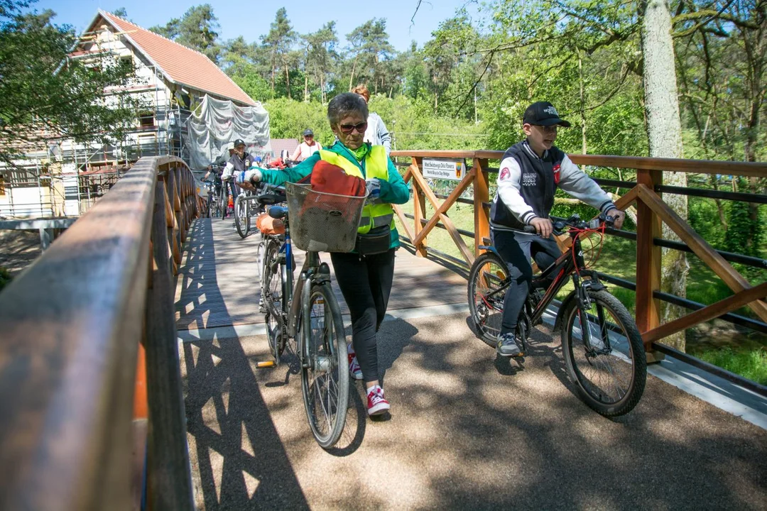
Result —
<path fill-rule="evenodd" d="M 394 277 L 394 249 L 360 259 L 360 254 L 331 254 L 336 282 L 351 313 L 357 362 L 365 382 L 378 379 L 376 332 L 386 315 Z"/>

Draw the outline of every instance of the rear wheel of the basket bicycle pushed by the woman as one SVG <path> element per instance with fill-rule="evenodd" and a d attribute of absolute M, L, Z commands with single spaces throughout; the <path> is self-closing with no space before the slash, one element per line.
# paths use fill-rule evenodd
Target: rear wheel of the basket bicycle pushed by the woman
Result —
<path fill-rule="evenodd" d="M 269 350 L 280 362 L 280 355 L 285 351 L 285 320 L 282 314 L 282 290 L 285 282 L 285 265 L 277 262 L 280 246 L 277 241 L 268 239 L 264 249 L 264 269 L 261 281 L 261 300 L 265 310 L 266 339 Z"/>

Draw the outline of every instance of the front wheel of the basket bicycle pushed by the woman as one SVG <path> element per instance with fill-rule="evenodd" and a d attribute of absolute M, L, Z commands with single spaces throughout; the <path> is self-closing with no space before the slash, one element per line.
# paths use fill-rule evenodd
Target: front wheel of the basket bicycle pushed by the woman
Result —
<path fill-rule="evenodd" d="M 328 449 L 341 437 L 349 405 L 344 323 L 328 283 L 314 284 L 309 303 L 302 304 L 301 309 L 304 408 L 314 439 Z"/>

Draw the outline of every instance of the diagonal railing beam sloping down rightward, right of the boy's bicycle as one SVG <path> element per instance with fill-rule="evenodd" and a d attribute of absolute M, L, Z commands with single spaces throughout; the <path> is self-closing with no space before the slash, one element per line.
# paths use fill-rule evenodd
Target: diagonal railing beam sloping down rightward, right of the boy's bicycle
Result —
<path fill-rule="evenodd" d="M 747 290 L 751 287 L 751 284 L 745 277 L 739 274 L 737 270 L 724 259 L 724 257 L 719 255 L 719 253 L 715 251 L 703 237 L 700 237 L 700 234 L 693 231 L 693 229 L 690 228 L 690 225 L 686 224 L 679 215 L 676 215 L 676 211 L 673 211 L 673 209 L 663 202 L 652 189 L 648 188 L 646 185 L 637 185 L 637 188 L 642 202 L 666 222 L 671 230 L 680 237 L 680 240 L 690 247 L 693 253 L 700 257 L 700 259 L 727 284 L 727 287 L 735 293 L 739 293 L 740 291 Z M 767 303 L 762 300 L 757 300 L 754 303 L 750 303 L 749 306 L 762 321 L 767 321 Z"/>

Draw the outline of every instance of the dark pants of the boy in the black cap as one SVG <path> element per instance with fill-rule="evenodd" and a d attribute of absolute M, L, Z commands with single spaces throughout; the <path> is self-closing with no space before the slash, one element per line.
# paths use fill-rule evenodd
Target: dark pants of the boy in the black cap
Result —
<path fill-rule="evenodd" d="M 535 264 L 540 270 L 545 270 L 561 251 L 553 237 L 544 239 L 537 234 L 526 234 L 518 231 L 490 230 L 490 237 L 495 250 L 501 254 L 506 267 L 509 269 L 511 284 L 506 290 L 503 300 L 503 319 L 501 333 L 514 332 L 517 328 L 517 319 L 525 299 L 530 292 L 532 282 L 532 255 Z"/>

